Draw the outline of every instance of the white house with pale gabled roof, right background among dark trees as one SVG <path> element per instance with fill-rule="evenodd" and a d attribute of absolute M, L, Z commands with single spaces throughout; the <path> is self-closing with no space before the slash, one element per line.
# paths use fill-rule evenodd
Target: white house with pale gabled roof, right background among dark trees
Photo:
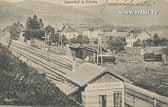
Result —
<path fill-rule="evenodd" d="M 137 42 L 138 40 L 140 40 L 142 44 L 144 40 L 147 40 L 149 38 L 151 38 L 151 35 L 145 30 L 131 31 L 126 37 L 126 43 L 127 43 L 126 47 L 134 47 L 134 43 Z"/>

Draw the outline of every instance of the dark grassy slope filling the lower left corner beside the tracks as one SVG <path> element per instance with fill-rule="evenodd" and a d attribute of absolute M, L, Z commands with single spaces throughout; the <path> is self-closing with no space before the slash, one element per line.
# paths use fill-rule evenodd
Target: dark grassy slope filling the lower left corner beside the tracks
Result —
<path fill-rule="evenodd" d="M 0 45 L 0 105 L 79 107 L 54 84 Z"/>

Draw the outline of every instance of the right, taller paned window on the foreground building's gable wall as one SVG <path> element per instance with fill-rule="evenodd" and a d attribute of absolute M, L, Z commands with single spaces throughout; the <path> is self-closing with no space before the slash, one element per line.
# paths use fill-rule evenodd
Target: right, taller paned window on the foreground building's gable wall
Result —
<path fill-rule="evenodd" d="M 122 92 L 114 92 L 113 97 L 114 107 L 122 107 Z"/>

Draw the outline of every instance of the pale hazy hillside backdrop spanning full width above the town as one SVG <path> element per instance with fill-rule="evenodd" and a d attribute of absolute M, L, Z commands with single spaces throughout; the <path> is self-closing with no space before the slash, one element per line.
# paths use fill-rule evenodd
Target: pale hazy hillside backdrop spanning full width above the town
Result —
<path fill-rule="evenodd" d="M 19 3 L 0 3 L 0 23 L 9 23 L 14 20 L 25 20 L 30 14 L 38 14 L 45 23 L 84 23 L 84 24 L 129 24 L 129 25 L 168 25 L 167 17 L 168 2 L 155 0 L 150 6 L 92 6 L 92 7 L 67 7 L 60 4 L 37 2 L 25 0 Z M 139 8 L 141 7 L 141 8 Z M 158 16 L 123 16 L 119 14 L 122 10 L 159 10 Z"/>

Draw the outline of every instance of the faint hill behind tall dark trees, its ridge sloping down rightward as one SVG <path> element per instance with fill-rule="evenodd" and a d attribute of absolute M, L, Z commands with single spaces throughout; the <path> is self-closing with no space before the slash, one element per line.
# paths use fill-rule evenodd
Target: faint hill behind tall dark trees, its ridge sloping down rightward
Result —
<path fill-rule="evenodd" d="M 45 24 L 57 23 L 85 23 L 86 20 L 95 22 L 97 19 L 87 12 L 71 7 L 46 2 L 24 1 L 19 3 L 7 4 L 0 3 L 0 23 L 15 20 L 25 21 L 26 16 L 38 14 L 45 21 Z M 2 8 L 2 9 L 1 9 Z M 5 15 L 6 14 L 6 15 Z M 99 22 L 99 21 L 98 21 Z M 96 22 L 96 23 L 98 23 Z"/>

